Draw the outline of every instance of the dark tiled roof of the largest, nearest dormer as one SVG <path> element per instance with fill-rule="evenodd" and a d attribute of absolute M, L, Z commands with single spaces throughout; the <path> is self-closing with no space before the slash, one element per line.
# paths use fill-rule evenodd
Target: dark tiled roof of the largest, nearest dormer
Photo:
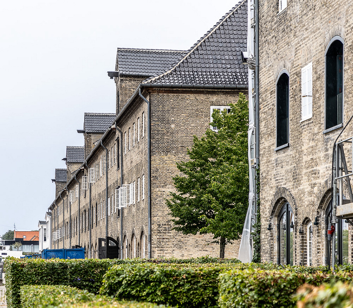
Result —
<path fill-rule="evenodd" d="M 186 50 L 117 48 L 117 70 L 122 75 L 151 77 L 176 63 Z"/>

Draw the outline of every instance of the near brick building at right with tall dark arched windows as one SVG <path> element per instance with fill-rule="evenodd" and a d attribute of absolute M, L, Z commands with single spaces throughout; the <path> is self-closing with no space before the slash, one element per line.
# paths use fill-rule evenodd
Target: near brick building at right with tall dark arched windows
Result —
<path fill-rule="evenodd" d="M 332 149 L 353 112 L 353 8 L 320 0 L 259 8 L 261 258 L 325 265 Z M 351 134 L 350 126 L 340 138 Z M 351 226 L 339 220 L 336 231 L 337 262 L 351 263 Z"/>

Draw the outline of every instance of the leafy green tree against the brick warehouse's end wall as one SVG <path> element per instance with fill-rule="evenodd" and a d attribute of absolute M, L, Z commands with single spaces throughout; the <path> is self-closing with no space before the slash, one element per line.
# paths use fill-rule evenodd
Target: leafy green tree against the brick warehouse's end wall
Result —
<path fill-rule="evenodd" d="M 173 177 L 177 192 L 166 204 L 173 229 L 184 234 L 213 234 L 224 258 L 227 243 L 239 239 L 248 208 L 248 101 L 240 94 L 230 112 L 215 111 L 212 126 L 194 136 L 190 160 L 177 163 L 183 173 Z"/>

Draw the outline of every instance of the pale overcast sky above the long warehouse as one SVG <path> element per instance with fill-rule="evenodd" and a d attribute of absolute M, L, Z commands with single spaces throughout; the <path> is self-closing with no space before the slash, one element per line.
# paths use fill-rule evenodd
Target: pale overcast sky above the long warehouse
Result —
<path fill-rule="evenodd" d="M 17 0 L 0 10 L 0 235 L 37 230 L 85 112 L 114 113 L 116 48 L 189 49 L 237 4 Z"/>

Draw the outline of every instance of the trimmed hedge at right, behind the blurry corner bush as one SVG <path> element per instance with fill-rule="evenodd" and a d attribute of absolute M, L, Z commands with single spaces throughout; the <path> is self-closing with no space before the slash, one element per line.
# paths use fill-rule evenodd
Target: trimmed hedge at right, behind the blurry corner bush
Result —
<path fill-rule="evenodd" d="M 352 272 L 322 272 L 300 268 L 280 271 L 231 269 L 219 275 L 220 307 L 295 307 L 293 298 L 305 283 L 318 286 L 329 281 L 352 281 Z"/>

